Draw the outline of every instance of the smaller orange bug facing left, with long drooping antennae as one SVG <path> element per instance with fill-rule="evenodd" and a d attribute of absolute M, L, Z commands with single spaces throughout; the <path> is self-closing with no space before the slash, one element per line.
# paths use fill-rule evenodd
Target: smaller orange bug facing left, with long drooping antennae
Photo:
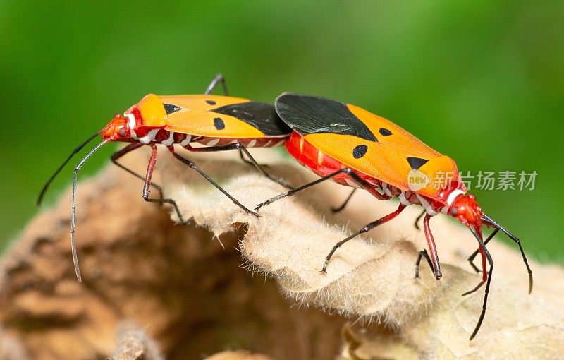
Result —
<path fill-rule="evenodd" d="M 222 83 L 223 91 L 226 96 L 210 95 L 216 85 Z M 217 75 L 207 88 L 204 95 L 176 95 L 176 96 L 157 96 L 149 94 L 142 98 L 140 102 L 130 107 L 122 114 L 116 114 L 106 127 L 94 133 L 84 143 L 78 145 L 71 155 L 56 169 L 56 172 L 49 178 L 42 188 L 37 198 L 37 205 L 42 203 L 43 196 L 56 175 L 61 172 L 63 167 L 71 160 L 73 155 L 79 152 L 84 146 L 98 135 L 102 136 L 102 142 L 96 145 L 74 169 L 73 177 L 73 200 L 71 215 L 71 246 L 73 253 L 73 263 L 78 281 L 81 281 L 80 268 L 78 267 L 78 256 L 75 246 L 75 210 L 76 210 L 76 185 L 78 171 L 86 160 L 94 154 L 102 145 L 121 141 L 129 143 L 125 148 L 115 152 L 111 156 L 112 162 L 125 171 L 133 174 L 145 181 L 142 197 L 146 201 L 156 203 L 171 204 L 178 215 L 178 219 L 183 224 L 188 224 L 184 220 L 176 202 L 171 198 L 164 198 L 161 186 L 152 183 L 151 178 L 157 163 L 157 145 L 166 146 L 171 154 L 180 162 L 183 162 L 191 169 L 194 169 L 204 179 L 209 181 L 219 191 L 230 198 L 235 205 L 243 209 L 247 214 L 255 215 L 256 212 L 247 209 L 244 205 L 213 179 L 205 174 L 200 167 L 179 155 L 174 150 L 174 145 L 178 144 L 192 152 L 214 152 L 223 150 L 238 149 L 241 158 L 255 166 L 259 172 L 278 184 L 291 188 L 285 181 L 277 179 L 268 174 L 261 165 L 247 151 L 253 147 L 271 147 L 282 145 L 291 133 L 291 129 L 284 124 L 276 115 L 274 105 L 265 102 L 255 102 L 240 97 L 228 96 L 225 78 L 221 74 Z M 205 147 L 194 148 L 191 143 L 207 145 Z M 152 149 L 152 154 L 147 166 L 145 176 L 133 172 L 118 162 L 118 159 L 128 152 L 147 145 Z M 243 154 L 248 160 L 245 160 Z M 160 198 L 149 198 L 151 186 L 160 193 Z"/>

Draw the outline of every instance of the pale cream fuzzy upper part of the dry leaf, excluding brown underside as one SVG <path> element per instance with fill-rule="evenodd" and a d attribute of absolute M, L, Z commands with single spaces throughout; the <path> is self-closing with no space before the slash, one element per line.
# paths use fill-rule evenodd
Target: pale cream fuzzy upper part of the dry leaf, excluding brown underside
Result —
<path fill-rule="evenodd" d="M 217 219 L 216 208 L 223 212 L 233 208 L 221 193 L 209 194 L 209 198 L 197 196 L 195 188 L 183 186 L 192 184 L 195 174 L 174 172 L 176 166 L 168 164 L 172 166 L 164 172 L 167 192 L 181 199 L 183 215 L 203 222 Z M 296 186 L 305 182 L 295 180 L 291 167 L 284 170 L 278 174 L 292 179 Z M 269 198 L 283 191 L 281 186 L 257 179 L 252 173 L 226 179 L 224 184 L 233 189 L 235 198 L 248 204 L 262 202 L 264 193 Z M 350 219 L 350 228 L 357 229 L 397 207 L 397 203 L 382 203 L 364 192 L 347 212 L 331 215 L 329 206 L 338 205 L 347 191 L 343 186 L 326 184 L 262 208 L 259 220 L 247 218 L 249 229 L 240 242 L 243 255 L 252 267 L 274 277 L 300 304 L 360 318 L 364 320 L 361 323 L 373 325 L 368 332 L 384 323 L 397 330 L 403 344 L 415 349 L 417 357 L 559 356 L 564 349 L 564 306 L 558 296 L 564 290 L 563 269 L 533 262 L 537 285 L 528 295 L 527 272 L 516 246 L 508 248 L 496 241 L 489 246 L 496 263 L 489 310 L 476 339 L 468 340 L 482 309 L 483 292 L 465 297 L 461 294 L 480 281 L 481 275 L 474 273 L 465 260 L 477 244 L 467 229 L 447 217 L 432 221 L 443 264 L 440 281 L 428 268 L 422 268 L 422 278 L 414 277 L 415 259 L 424 248 L 424 236 L 413 226 L 419 211 L 415 207 L 371 232 L 376 241 L 355 239 L 339 248 L 326 274 L 320 272 L 326 254 L 347 235 L 333 225 L 346 224 Z M 202 200 L 213 202 L 214 207 L 204 206 Z M 241 212 L 233 213 L 234 221 L 244 221 L 242 216 Z M 226 231 L 218 222 L 210 226 L 217 233 Z M 545 279 L 551 279 L 550 284 Z M 393 340 L 398 335 L 394 334 Z M 534 341 L 515 344 L 523 338 Z M 384 340 L 389 342 L 389 337 Z M 371 356 L 380 354 L 366 358 Z"/>

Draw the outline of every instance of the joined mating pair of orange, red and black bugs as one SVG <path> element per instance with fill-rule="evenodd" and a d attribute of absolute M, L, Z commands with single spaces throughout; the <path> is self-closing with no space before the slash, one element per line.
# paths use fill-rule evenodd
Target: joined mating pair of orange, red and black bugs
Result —
<path fill-rule="evenodd" d="M 219 83 L 222 83 L 226 96 L 210 95 Z M 478 250 L 470 256 L 469 260 L 474 270 L 479 271 L 472 260 L 477 256 L 477 253 L 480 253 L 482 257 L 482 281 L 479 282 L 477 287 L 464 295 L 477 291 L 483 284 L 486 284 L 486 291 L 482 313 L 470 340 L 477 334 L 480 325 L 482 325 L 493 272 L 494 262 L 486 249 L 486 244 L 499 230 L 507 234 L 519 246 L 529 273 L 529 292 L 532 290 L 532 270 L 529 268 L 519 239 L 492 220 L 491 217 L 486 216 L 477 205 L 473 195 L 465 195 L 467 189 L 460 177 L 453 179 L 442 188 L 434 186 L 434 184 L 437 184 L 435 180 L 439 174 L 447 172 L 458 174 L 455 162 L 449 157 L 432 150 L 391 121 L 371 114 L 360 107 L 322 97 L 295 94 L 281 95 L 276 99 L 274 106 L 263 102 L 229 97 L 225 79 L 221 75 L 214 78 L 204 95 L 147 95 L 123 115 L 117 114 L 102 131 L 95 133 L 85 143 L 79 145 L 47 181 L 39 194 L 38 203 L 41 202 L 47 187 L 56 174 L 59 174 L 63 166 L 71 160 L 76 152 L 80 151 L 98 135 L 102 136 L 102 143 L 99 143 L 90 151 L 74 169 L 71 242 L 73 261 L 79 281 L 80 270 L 75 249 L 77 174 L 82 164 L 105 143 L 111 141 L 130 143 L 112 155 L 112 161 L 145 181 L 142 193 L 145 200 L 171 204 L 183 224 L 186 224 L 187 221 L 183 219 L 175 201 L 171 198 L 164 198 L 161 188 L 151 181 L 157 160 L 157 144 L 165 145 L 176 159 L 194 169 L 219 191 L 228 196 L 235 205 L 252 215 L 257 215 L 257 213 L 240 204 L 238 200 L 202 172 L 202 169 L 197 167 L 194 162 L 178 155 L 173 145 L 178 144 L 193 152 L 238 149 L 243 160 L 245 160 L 245 156 L 247 157 L 248 160 L 245 160 L 245 162 L 255 166 L 259 172 L 269 179 L 290 188 L 285 181 L 268 174 L 247 151 L 247 148 L 252 147 L 285 144 L 290 155 L 295 157 L 300 164 L 312 169 L 313 172 L 321 176 L 321 179 L 299 188 L 290 188 L 286 193 L 259 204 L 255 210 L 326 180 L 336 181 L 345 186 L 363 188 L 379 200 L 388 200 L 393 197 L 400 199 L 400 205 L 396 211 L 366 224 L 362 229 L 339 241 L 326 256 L 323 271 L 326 270 L 333 253 L 345 242 L 392 220 L 408 205 L 421 205 L 424 208 L 423 225 L 429 253 L 425 250 L 419 253 L 416 263 L 416 277 L 419 274 L 419 263 L 423 257 L 429 263 L 436 279 L 440 279 L 442 276 L 429 225 L 429 220 L 434 215 L 442 212 L 455 217 L 470 229 L 478 241 Z M 191 143 L 200 143 L 206 146 L 192 147 Z M 120 157 L 140 148 L 142 145 L 149 145 L 152 148 L 152 155 L 145 176 L 137 174 L 117 162 Z M 160 198 L 149 198 L 151 186 L 160 192 Z M 349 199 L 350 197 L 347 201 Z M 494 232 L 485 241 L 482 236 L 482 225 L 494 228 Z M 486 262 L 489 263 L 489 270 Z"/>

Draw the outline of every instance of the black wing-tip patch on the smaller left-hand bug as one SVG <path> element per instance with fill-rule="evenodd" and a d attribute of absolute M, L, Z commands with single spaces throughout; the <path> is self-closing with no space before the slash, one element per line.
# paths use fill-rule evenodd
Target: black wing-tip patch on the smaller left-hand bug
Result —
<path fill-rule="evenodd" d="M 278 117 L 274 105 L 267 102 L 242 102 L 213 109 L 212 112 L 233 116 L 254 126 L 266 136 L 288 135 L 292 129 Z"/>

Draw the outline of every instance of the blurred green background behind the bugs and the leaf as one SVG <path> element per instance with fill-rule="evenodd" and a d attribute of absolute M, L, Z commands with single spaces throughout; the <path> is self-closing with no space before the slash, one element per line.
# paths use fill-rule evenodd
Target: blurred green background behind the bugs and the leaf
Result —
<path fill-rule="evenodd" d="M 222 72 L 241 97 L 360 105 L 463 171 L 537 171 L 534 191 L 475 192 L 527 253 L 562 262 L 561 1 L 114 3 L 0 2 L 2 246 L 39 211 L 51 172 L 116 112 L 149 92 L 200 93 Z M 61 175 L 48 203 L 72 167 Z"/>

